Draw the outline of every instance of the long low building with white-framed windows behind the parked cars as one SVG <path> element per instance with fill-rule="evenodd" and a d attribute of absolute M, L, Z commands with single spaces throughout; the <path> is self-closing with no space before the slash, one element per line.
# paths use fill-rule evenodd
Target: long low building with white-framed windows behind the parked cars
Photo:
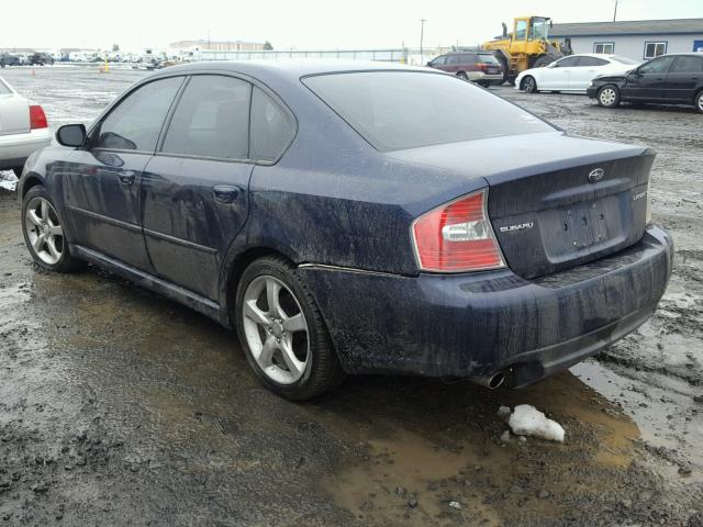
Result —
<path fill-rule="evenodd" d="M 703 52 L 703 19 L 554 24 L 549 34 L 571 38 L 573 53 L 614 53 L 635 60 Z"/>

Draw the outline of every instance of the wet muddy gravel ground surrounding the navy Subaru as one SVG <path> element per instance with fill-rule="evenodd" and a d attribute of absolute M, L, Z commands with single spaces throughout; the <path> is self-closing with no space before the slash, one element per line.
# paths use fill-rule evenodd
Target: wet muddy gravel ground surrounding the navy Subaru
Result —
<path fill-rule="evenodd" d="M 54 126 L 144 75 L 31 71 L 2 75 Z M 0 526 L 703 525 L 703 116 L 494 91 L 659 153 L 677 261 L 649 323 L 527 390 L 359 377 L 292 404 L 210 319 L 94 268 L 40 272 L 0 191 Z M 520 403 L 566 441 L 502 442 L 495 412 Z"/>

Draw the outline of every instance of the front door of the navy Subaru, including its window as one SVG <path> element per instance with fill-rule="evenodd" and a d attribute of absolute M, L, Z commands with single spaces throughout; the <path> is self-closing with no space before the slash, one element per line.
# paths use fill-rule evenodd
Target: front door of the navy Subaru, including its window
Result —
<path fill-rule="evenodd" d="M 64 200 L 72 242 L 131 267 L 152 271 L 142 235 L 142 175 L 183 77 L 138 86 L 71 153 Z"/>

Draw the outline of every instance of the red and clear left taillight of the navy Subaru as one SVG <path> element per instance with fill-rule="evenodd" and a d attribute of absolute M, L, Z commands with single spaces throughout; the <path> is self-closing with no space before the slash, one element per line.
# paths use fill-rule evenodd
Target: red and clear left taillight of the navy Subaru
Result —
<path fill-rule="evenodd" d="M 413 222 L 415 255 L 424 271 L 479 271 L 505 267 L 487 213 L 488 189 L 465 195 Z"/>

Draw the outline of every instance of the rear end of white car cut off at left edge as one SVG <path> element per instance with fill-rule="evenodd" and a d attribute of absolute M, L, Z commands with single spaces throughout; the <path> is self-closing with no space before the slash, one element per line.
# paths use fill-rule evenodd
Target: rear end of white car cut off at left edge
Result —
<path fill-rule="evenodd" d="M 52 144 L 44 110 L 0 78 L 0 170 L 20 176 L 34 150 Z"/>

